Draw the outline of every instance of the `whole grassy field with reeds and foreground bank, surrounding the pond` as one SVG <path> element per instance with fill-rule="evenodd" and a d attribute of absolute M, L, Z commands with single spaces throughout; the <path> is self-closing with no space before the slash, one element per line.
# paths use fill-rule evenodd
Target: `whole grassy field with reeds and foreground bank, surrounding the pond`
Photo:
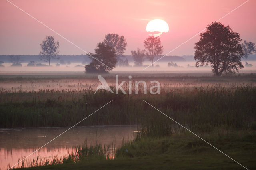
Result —
<path fill-rule="evenodd" d="M 31 169 L 243 169 L 184 128 L 175 126 L 145 100 L 246 168 L 256 167 L 255 74 L 132 76 L 132 81 L 158 80 L 160 95 L 143 94 L 143 87 L 138 95 L 134 91 L 131 95 L 107 91 L 94 94 L 99 85 L 96 75 L 1 77 L 0 126 L 72 126 L 113 100 L 79 125 L 141 125 L 137 138 L 124 142 L 114 160 L 106 159 L 105 148 L 94 146 L 96 150 L 92 147 L 94 152 L 90 152 L 94 154 L 74 153 L 61 164 L 53 162 Z M 114 75 L 106 77 L 114 85 Z M 121 75 L 120 81 L 127 77 Z M 124 89 L 127 91 L 128 84 Z M 84 153 L 82 150 L 90 148 L 81 148 Z"/>

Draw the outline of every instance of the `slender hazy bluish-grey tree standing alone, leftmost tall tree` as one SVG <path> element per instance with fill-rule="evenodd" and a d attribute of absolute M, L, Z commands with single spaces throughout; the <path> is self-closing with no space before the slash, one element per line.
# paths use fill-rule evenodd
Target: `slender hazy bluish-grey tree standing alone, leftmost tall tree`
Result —
<path fill-rule="evenodd" d="M 59 59 L 59 42 L 54 40 L 54 36 L 47 36 L 46 39 L 40 44 L 42 51 L 40 52 L 40 59 L 50 64 L 51 59 Z"/>

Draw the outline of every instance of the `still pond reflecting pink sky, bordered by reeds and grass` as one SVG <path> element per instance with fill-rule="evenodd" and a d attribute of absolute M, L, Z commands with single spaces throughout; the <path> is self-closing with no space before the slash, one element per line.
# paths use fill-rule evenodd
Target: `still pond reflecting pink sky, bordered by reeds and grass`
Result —
<path fill-rule="evenodd" d="M 12 167 L 38 148 L 67 130 L 69 127 L 52 128 L 2 128 L 0 129 L 0 170 Z M 110 145 L 117 149 L 123 140 L 131 140 L 137 125 L 84 126 L 73 127 L 25 160 L 32 161 L 39 155 L 42 159 L 52 156 L 64 157 L 74 151 L 74 147 L 85 141 L 90 146 L 96 143 Z M 115 148 L 113 145 L 115 144 Z M 110 155 L 113 157 L 113 155 Z M 18 164 L 17 164 L 18 165 Z M 15 167 L 17 167 L 17 165 Z M 21 163 L 20 163 L 21 165 Z"/>

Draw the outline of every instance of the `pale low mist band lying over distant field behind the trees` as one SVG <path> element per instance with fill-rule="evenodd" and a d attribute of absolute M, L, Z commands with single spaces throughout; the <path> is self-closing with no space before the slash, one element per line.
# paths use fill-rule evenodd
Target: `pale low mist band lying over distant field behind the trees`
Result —
<path fill-rule="evenodd" d="M 8 56 L 5 56 L 4 59 L 8 59 Z M 61 72 L 70 72 L 70 73 L 84 73 L 86 65 L 86 62 L 83 62 L 82 59 L 86 57 L 81 57 L 79 60 L 72 60 L 73 57 L 70 57 L 70 59 L 62 59 L 60 61 L 53 61 L 51 66 L 46 65 L 45 62 L 38 60 L 37 63 L 41 63 L 44 66 L 27 66 L 29 61 L 24 62 L 22 61 L 20 64 L 22 66 L 12 66 L 12 63 L 10 63 L 7 59 L 7 62 L 4 62 L 2 64 L 2 67 L 0 67 L 0 73 L 1 74 L 24 74 L 24 73 L 61 73 Z M 127 72 L 127 73 L 209 73 L 212 74 L 212 67 L 210 65 L 204 65 L 202 67 L 195 67 L 196 61 L 194 61 L 193 56 L 190 56 L 189 59 L 184 59 L 186 57 L 175 57 L 172 58 L 169 56 L 163 57 L 160 61 L 156 62 L 154 67 L 148 67 L 151 63 L 150 61 L 145 61 L 144 66 L 136 66 L 134 65 L 134 61 L 130 59 L 129 66 L 116 66 L 111 73 L 118 73 L 118 72 Z M 254 59 L 254 56 L 251 57 Z M 81 61 L 82 60 L 82 61 Z M 188 61 L 187 61 L 188 60 Z M 172 65 L 168 66 L 168 63 L 173 63 Z M 62 64 L 60 64 L 62 63 Z M 242 63 L 245 63 L 244 60 L 242 60 Z M 249 67 L 244 67 L 244 69 L 239 70 L 239 73 L 256 73 L 256 61 L 249 60 L 248 63 L 251 64 Z M 146 68 L 146 69 L 145 69 Z M 145 70 L 143 70 L 145 69 Z"/>

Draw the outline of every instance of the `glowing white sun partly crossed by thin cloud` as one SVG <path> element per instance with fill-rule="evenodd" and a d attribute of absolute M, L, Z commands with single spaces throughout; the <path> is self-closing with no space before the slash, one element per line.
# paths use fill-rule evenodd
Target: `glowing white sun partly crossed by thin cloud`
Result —
<path fill-rule="evenodd" d="M 150 36 L 160 36 L 163 32 L 169 31 L 169 26 L 164 20 L 151 20 L 146 26 L 146 31 L 152 32 Z"/>

